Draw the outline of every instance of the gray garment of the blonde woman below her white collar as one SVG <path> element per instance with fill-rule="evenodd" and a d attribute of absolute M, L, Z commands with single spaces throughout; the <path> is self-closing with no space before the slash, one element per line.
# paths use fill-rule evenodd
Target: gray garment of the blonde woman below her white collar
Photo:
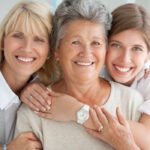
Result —
<path fill-rule="evenodd" d="M 19 105 L 14 103 L 7 110 L 0 109 L 0 146 L 10 143 L 13 139 Z"/>

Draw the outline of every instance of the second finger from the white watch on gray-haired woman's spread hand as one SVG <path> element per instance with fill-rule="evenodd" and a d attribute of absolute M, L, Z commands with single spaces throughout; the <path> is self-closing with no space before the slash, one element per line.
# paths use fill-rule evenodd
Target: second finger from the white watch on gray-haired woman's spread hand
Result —
<path fill-rule="evenodd" d="M 103 126 L 106 126 L 108 124 L 108 120 L 106 116 L 103 114 L 102 110 L 100 107 L 94 107 L 96 114 L 98 116 L 99 121 Z"/>

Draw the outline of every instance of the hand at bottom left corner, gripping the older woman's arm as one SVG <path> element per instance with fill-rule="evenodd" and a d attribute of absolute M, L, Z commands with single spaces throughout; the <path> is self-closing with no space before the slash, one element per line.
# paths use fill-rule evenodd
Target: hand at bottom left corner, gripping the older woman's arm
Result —
<path fill-rule="evenodd" d="M 8 150 L 42 150 L 40 141 L 32 132 L 18 135 L 10 144 Z"/>

